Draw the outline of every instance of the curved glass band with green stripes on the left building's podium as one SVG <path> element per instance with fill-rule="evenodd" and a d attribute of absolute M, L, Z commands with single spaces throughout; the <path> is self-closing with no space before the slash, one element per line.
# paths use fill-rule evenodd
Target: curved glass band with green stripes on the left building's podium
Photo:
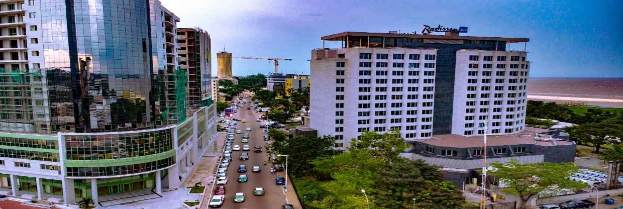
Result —
<path fill-rule="evenodd" d="M 171 129 L 101 135 L 65 135 L 66 160 L 141 157 L 173 150 Z"/>

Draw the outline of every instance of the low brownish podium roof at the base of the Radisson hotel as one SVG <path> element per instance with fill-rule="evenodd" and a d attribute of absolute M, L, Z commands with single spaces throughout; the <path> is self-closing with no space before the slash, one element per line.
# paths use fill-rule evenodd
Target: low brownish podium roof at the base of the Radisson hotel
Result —
<path fill-rule="evenodd" d="M 517 134 L 508 135 L 488 135 L 487 146 L 504 146 L 504 145 L 519 145 L 519 144 L 537 144 L 541 146 L 555 146 L 555 145 L 573 145 L 574 142 L 563 139 L 552 138 L 549 139 L 548 135 L 541 134 L 543 132 L 551 131 L 548 129 L 539 129 L 536 127 L 526 126 L 522 132 Z M 535 135 L 540 134 L 540 140 L 535 140 Z M 483 137 L 464 137 L 462 135 L 455 134 L 441 134 L 434 135 L 430 139 L 418 140 L 418 142 L 427 143 L 439 147 L 482 147 Z"/>

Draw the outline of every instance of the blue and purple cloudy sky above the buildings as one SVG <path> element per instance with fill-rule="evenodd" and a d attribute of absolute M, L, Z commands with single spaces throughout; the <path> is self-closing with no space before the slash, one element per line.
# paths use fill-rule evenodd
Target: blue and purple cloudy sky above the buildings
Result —
<path fill-rule="evenodd" d="M 178 27 L 201 27 L 216 53 L 279 57 L 280 72 L 309 74 L 321 36 L 345 31 L 421 34 L 422 25 L 467 26 L 461 36 L 527 37 L 531 77 L 623 77 L 623 1 L 160 0 Z M 183 3 L 181 3 L 183 2 Z M 564 2 L 564 3 L 563 3 Z M 340 42 L 326 47 L 340 47 Z M 511 44 L 523 49 L 523 43 Z M 272 62 L 233 59 L 235 76 L 274 72 Z"/>

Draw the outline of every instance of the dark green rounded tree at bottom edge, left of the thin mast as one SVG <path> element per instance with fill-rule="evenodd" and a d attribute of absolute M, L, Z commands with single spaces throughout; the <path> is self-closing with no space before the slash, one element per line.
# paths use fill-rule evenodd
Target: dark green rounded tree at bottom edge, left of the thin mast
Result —
<path fill-rule="evenodd" d="M 410 208 L 416 198 L 417 208 L 460 208 L 465 203 L 453 183 L 443 182 L 438 167 L 422 160 L 401 158 L 374 173 L 370 191 L 381 208 Z"/>

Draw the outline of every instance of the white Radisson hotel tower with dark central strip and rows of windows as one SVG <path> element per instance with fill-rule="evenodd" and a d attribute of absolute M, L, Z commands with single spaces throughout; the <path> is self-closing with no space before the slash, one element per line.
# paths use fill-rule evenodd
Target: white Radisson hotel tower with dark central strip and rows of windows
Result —
<path fill-rule="evenodd" d="M 312 50 L 310 127 L 340 146 L 365 131 L 396 129 L 409 142 L 524 129 L 530 62 L 507 46 L 528 39 L 341 32 L 321 40 L 343 47 Z"/>

